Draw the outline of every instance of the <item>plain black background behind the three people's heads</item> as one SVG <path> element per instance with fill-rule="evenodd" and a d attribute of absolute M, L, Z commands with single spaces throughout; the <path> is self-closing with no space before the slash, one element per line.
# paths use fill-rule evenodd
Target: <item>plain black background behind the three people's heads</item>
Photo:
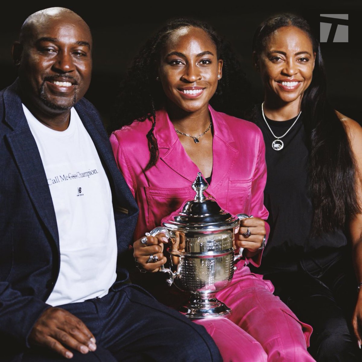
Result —
<path fill-rule="evenodd" d="M 77 1 L 17 1 L 2 6 L 0 15 L 0 89 L 16 78 L 10 49 L 18 31 L 31 13 L 47 7 L 67 7 L 88 23 L 93 34 L 93 76 L 86 97 L 100 110 L 105 122 L 114 103 L 118 85 L 143 43 L 164 24 L 177 16 L 194 17 L 213 25 L 230 41 L 257 97 L 261 81 L 251 64 L 252 36 L 267 17 L 292 12 L 307 19 L 319 38 L 320 14 L 349 14 L 349 42 L 321 43 L 328 77 L 329 98 L 335 109 L 362 123 L 362 1 L 137 1 L 124 3 L 96 1 L 89 5 Z"/>

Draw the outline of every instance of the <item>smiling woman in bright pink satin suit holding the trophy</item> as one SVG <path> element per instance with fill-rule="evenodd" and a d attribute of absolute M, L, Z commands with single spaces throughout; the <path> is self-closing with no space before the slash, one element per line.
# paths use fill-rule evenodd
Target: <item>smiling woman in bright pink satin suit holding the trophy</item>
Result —
<path fill-rule="evenodd" d="M 165 236 L 143 237 L 193 197 L 190 185 L 201 172 L 209 182 L 206 194 L 221 207 L 254 217 L 243 220 L 235 238 L 236 247 L 245 248 L 244 260 L 230 285 L 216 294 L 232 308 L 230 316 L 195 323 L 205 326 L 224 361 L 313 361 L 306 350 L 310 326 L 247 266 L 260 264 L 269 232 L 265 146 L 258 127 L 209 105 L 215 92 L 227 97 L 234 64 L 208 25 L 182 19 L 161 29 L 135 59 L 120 99 L 125 126 L 111 135 L 119 169 L 140 209 L 134 257 L 149 272 L 166 262 Z M 143 109 L 137 108 L 139 99 Z"/>

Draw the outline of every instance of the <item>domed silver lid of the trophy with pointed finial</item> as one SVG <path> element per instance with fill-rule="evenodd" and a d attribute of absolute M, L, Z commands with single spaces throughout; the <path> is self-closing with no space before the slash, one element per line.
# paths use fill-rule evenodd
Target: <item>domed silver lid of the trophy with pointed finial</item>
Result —
<path fill-rule="evenodd" d="M 215 199 L 203 194 L 208 186 L 199 172 L 191 185 L 196 192 L 194 199 L 184 202 L 180 209 L 163 218 L 161 225 L 180 231 L 213 231 L 237 226 L 239 219 L 236 216 L 223 210 Z"/>

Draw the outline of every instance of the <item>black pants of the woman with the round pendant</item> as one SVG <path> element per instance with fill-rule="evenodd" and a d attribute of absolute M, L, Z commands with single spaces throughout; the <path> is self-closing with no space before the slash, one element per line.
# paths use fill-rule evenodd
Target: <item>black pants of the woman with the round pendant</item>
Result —
<path fill-rule="evenodd" d="M 337 257 L 323 267 L 301 261 L 298 271 L 265 278 L 298 318 L 313 327 L 308 352 L 317 362 L 362 361 L 351 325 L 357 285 L 348 257 Z"/>

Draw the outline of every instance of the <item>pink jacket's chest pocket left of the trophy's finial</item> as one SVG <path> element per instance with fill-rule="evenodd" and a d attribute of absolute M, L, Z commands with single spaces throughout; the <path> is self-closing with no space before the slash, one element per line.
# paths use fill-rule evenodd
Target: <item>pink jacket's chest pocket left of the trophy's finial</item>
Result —
<path fill-rule="evenodd" d="M 160 226 L 161 220 L 177 210 L 191 198 L 195 192 L 191 187 L 167 189 L 158 187 L 145 187 L 148 215 L 146 216 L 148 230 Z"/>

